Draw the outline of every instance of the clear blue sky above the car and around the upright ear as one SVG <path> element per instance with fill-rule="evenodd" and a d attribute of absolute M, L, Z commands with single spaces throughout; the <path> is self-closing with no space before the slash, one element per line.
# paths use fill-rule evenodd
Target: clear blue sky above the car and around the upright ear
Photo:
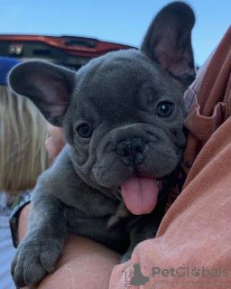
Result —
<path fill-rule="evenodd" d="M 165 0 L 0 0 L 1 34 L 73 35 L 140 47 Z M 201 65 L 231 24 L 230 0 L 189 0 L 195 62 Z"/>

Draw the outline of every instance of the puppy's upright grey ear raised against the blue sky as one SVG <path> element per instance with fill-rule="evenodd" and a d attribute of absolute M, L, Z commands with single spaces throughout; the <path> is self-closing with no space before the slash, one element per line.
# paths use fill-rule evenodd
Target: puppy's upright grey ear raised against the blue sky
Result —
<path fill-rule="evenodd" d="M 195 15 L 189 5 L 173 2 L 153 19 L 141 51 L 161 64 L 186 87 L 195 79 L 191 30 Z"/>

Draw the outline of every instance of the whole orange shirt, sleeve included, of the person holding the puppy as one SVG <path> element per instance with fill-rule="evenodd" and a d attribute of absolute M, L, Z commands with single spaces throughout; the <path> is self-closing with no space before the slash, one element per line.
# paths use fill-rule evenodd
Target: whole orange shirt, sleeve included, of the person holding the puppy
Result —
<path fill-rule="evenodd" d="M 131 261 L 115 266 L 110 289 L 231 288 L 230 72 L 231 27 L 188 91 L 188 98 L 198 99 L 185 121 L 188 145 L 157 238 L 139 244 Z M 145 285 L 129 285 L 135 263 L 149 277 Z M 153 276 L 152 267 L 161 272 Z"/>

